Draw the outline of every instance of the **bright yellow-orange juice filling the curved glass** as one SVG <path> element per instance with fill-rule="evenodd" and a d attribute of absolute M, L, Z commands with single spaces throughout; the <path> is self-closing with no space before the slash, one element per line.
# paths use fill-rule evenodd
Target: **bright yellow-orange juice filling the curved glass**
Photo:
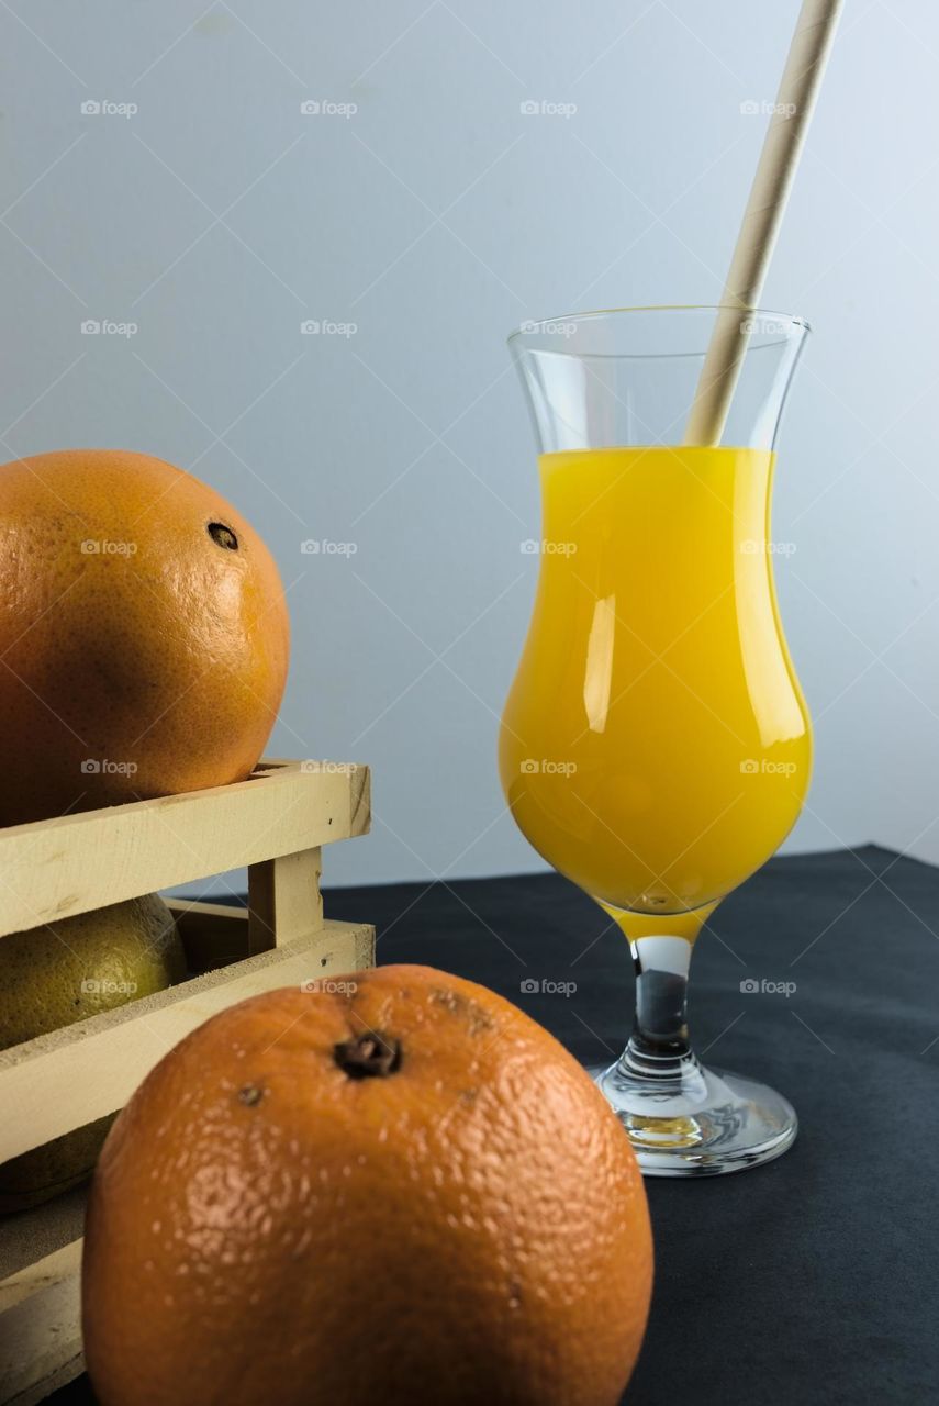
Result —
<path fill-rule="evenodd" d="M 661 446 L 540 461 L 541 574 L 502 785 L 538 853 L 630 936 L 693 938 L 805 797 L 811 733 L 773 586 L 773 461 Z"/>

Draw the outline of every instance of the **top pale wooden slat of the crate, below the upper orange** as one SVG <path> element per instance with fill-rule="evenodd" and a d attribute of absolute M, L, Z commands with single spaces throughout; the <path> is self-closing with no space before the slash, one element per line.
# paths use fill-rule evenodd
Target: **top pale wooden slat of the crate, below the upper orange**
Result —
<path fill-rule="evenodd" d="M 0 830 L 0 938 L 364 834 L 368 768 L 308 766 Z"/>

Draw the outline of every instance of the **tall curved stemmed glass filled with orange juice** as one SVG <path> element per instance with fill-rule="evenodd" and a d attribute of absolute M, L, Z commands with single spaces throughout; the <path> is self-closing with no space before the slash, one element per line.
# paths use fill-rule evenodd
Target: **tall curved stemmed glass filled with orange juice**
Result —
<path fill-rule="evenodd" d="M 811 770 L 773 581 L 791 544 L 770 531 L 776 430 L 808 329 L 749 315 L 721 443 L 686 446 L 715 311 L 582 314 L 510 339 L 543 526 L 502 785 L 531 845 L 630 943 L 633 1035 L 595 1074 L 658 1175 L 766 1161 L 797 1126 L 780 1094 L 704 1069 L 687 1036 L 701 925 L 783 841 Z"/>

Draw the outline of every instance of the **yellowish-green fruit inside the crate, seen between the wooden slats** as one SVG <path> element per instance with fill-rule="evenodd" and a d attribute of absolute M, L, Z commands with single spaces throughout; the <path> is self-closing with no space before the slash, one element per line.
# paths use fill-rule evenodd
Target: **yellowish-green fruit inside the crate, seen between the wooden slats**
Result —
<path fill-rule="evenodd" d="M 183 943 L 159 894 L 0 938 L 0 1049 L 164 991 L 186 976 Z M 0 1212 L 24 1211 L 94 1168 L 110 1114 L 0 1164 Z"/>

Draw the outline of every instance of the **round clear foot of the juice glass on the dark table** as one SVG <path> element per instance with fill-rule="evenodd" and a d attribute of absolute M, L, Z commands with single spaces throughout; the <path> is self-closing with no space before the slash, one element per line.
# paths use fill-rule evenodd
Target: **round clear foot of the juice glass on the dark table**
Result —
<path fill-rule="evenodd" d="M 624 1056 L 626 1059 L 626 1056 Z M 630 1074 L 617 1060 L 588 1073 L 626 1128 L 645 1177 L 717 1177 L 782 1156 L 796 1140 L 793 1105 L 739 1074 L 703 1069 L 692 1056 L 680 1080 Z"/>

